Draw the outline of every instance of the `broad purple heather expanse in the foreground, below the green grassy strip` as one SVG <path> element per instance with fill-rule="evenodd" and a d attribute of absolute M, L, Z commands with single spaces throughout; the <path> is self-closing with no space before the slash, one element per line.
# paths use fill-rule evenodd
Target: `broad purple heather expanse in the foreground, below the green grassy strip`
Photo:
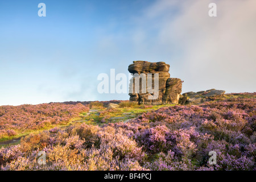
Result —
<path fill-rule="evenodd" d="M 30 134 L 0 149 L 1 170 L 256 170 L 255 99 L 162 107 L 129 122 Z M 36 155 L 46 152 L 47 164 Z M 209 164 L 209 152 L 217 164 Z"/>

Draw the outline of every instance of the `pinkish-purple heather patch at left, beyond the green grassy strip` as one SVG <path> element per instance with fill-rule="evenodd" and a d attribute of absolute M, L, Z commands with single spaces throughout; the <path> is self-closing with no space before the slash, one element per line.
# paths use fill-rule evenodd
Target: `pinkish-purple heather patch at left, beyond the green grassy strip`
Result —
<path fill-rule="evenodd" d="M 0 106 L 0 139 L 51 125 L 63 125 L 85 111 L 89 108 L 82 104 Z"/>

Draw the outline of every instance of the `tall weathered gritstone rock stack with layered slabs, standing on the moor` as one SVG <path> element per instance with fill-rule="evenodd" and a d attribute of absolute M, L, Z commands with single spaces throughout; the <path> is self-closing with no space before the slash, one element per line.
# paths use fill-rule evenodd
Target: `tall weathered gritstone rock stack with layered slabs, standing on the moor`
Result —
<path fill-rule="evenodd" d="M 128 71 L 133 74 L 130 80 L 129 88 L 130 101 L 138 102 L 138 104 L 177 104 L 181 93 L 182 83 L 179 78 L 170 78 L 169 73 L 170 65 L 164 62 L 150 63 L 148 61 L 133 61 L 133 64 L 129 65 Z M 138 73 L 138 74 L 136 74 Z M 143 85 L 142 78 L 139 78 L 139 92 L 135 92 L 135 77 L 140 76 L 142 73 L 147 76 L 148 73 L 152 74 L 152 88 L 154 89 L 154 77 L 158 73 L 159 85 L 158 90 L 155 93 L 148 93 L 147 84 Z M 148 81 L 148 80 L 147 80 Z M 142 92 L 143 86 L 146 86 L 146 93 Z M 157 93 L 156 93 L 157 92 Z M 158 95 L 154 100 L 148 99 L 151 95 Z"/>

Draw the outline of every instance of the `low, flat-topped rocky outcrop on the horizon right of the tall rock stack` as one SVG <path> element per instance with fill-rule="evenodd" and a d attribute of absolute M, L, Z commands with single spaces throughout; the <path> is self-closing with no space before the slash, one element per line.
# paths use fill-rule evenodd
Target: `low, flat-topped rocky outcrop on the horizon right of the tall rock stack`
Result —
<path fill-rule="evenodd" d="M 201 104 L 224 96 L 225 90 L 210 89 L 200 92 L 186 92 L 180 96 L 179 104 Z"/>

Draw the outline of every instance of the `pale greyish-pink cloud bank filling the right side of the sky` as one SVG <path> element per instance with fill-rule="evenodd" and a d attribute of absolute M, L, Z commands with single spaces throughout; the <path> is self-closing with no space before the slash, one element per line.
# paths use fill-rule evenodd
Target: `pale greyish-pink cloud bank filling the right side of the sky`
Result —
<path fill-rule="evenodd" d="M 217 4 L 217 17 L 208 16 L 211 2 Z M 183 92 L 210 88 L 255 92 L 255 22 L 254 0 L 156 1 L 137 20 L 139 28 L 134 37 L 141 30 L 157 27 L 156 36 L 145 33 L 143 39 L 133 40 L 137 48 L 151 40 L 152 57 L 168 54 L 168 50 L 180 51 L 179 60 L 170 60 L 171 68 L 176 65 L 176 75 L 185 81 Z"/>

